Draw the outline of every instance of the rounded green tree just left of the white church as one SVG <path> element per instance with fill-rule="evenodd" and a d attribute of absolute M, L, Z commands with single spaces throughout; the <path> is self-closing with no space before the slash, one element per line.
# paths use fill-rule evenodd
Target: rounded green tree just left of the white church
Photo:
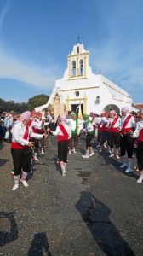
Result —
<path fill-rule="evenodd" d="M 45 94 L 39 94 L 39 95 L 33 96 L 28 100 L 28 108 L 29 110 L 32 110 L 34 108 L 40 107 L 46 104 L 48 100 L 49 100 L 49 96 Z"/>

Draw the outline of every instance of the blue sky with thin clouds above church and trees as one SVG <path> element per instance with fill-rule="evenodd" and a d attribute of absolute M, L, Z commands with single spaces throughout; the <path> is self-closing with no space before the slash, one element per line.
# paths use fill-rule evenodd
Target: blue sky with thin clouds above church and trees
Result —
<path fill-rule="evenodd" d="M 101 73 L 143 102 L 142 0 L 0 0 L 0 98 L 51 94 L 80 43 Z"/>

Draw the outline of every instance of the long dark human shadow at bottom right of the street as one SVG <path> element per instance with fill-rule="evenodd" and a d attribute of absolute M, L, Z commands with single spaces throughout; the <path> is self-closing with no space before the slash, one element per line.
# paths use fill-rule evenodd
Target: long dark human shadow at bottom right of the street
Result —
<path fill-rule="evenodd" d="M 109 218 L 111 210 L 98 201 L 90 192 L 81 192 L 76 204 L 83 221 L 89 228 L 100 250 L 108 256 L 134 256 L 129 244 L 124 241 L 116 226 Z"/>

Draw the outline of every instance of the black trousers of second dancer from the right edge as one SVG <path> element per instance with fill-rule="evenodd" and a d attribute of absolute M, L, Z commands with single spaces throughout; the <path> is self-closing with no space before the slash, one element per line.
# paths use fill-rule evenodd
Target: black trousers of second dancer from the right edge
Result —
<path fill-rule="evenodd" d="M 123 137 L 120 138 L 120 148 L 121 148 L 121 156 L 125 155 L 127 152 L 128 158 L 132 158 L 133 155 L 133 145 L 134 138 L 130 136 L 129 133 L 123 134 Z"/>

